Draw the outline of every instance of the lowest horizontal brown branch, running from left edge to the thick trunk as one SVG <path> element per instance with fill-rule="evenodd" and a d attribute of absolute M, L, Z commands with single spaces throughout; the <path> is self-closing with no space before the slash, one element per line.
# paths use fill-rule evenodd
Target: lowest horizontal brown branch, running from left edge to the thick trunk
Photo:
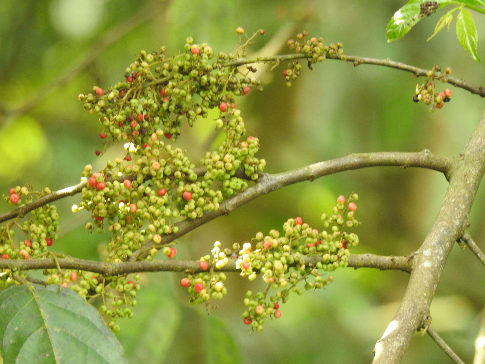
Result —
<path fill-rule="evenodd" d="M 322 260 L 321 256 L 305 258 L 307 264 L 315 265 Z M 104 263 L 77 258 L 58 258 L 57 263 L 61 268 L 79 269 L 88 272 L 103 274 L 104 276 L 123 275 L 135 272 L 187 272 L 199 273 L 202 269 L 198 261 L 178 261 L 178 260 L 154 260 L 124 263 Z M 12 270 L 32 270 L 32 269 L 51 269 L 57 268 L 57 263 L 53 259 L 0 259 L 0 269 Z M 210 266 L 210 265 L 209 265 Z M 380 270 L 402 270 L 411 272 L 411 261 L 407 256 L 382 256 L 375 254 L 351 254 L 349 256 L 349 267 L 352 268 L 377 268 Z M 216 271 L 239 272 L 236 269 L 236 262 L 229 262 Z"/>

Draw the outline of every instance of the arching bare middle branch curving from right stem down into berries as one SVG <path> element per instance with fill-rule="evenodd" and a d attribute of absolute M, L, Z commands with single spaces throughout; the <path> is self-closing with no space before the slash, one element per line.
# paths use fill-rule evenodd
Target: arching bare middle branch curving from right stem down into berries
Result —
<path fill-rule="evenodd" d="M 262 174 L 256 185 L 223 201 L 218 210 L 207 212 L 200 218 L 194 220 L 186 219 L 176 224 L 176 226 L 178 226 L 178 232 L 164 235 L 162 237 L 161 245 L 168 244 L 221 215 L 229 215 L 232 211 L 253 199 L 257 199 L 267 193 L 290 184 L 313 181 L 316 178 L 337 172 L 384 165 L 400 166 L 401 168 L 421 167 L 434 169 L 442 172 L 445 177 L 448 178 L 452 161 L 447 158 L 436 156 L 427 149 L 421 152 L 361 153 L 350 154 L 345 157 L 307 165 L 306 167 L 293 169 L 288 172 Z M 146 244 L 142 249 L 135 251 L 133 255 L 131 255 L 130 260 L 146 257 L 151 245 L 151 243 Z"/>

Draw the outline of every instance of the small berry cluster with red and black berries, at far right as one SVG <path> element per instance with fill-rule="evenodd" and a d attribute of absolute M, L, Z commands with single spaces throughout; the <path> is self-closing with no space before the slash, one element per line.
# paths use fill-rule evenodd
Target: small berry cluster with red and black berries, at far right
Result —
<path fill-rule="evenodd" d="M 435 79 L 441 80 L 444 83 L 448 82 L 446 75 L 451 74 L 451 69 L 447 67 L 445 72 L 438 77 L 435 77 L 435 71 L 440 72 L 441 69 L 438 66 L 434 66 L 432 70 L 428 71 L 428 80 L 421 85 L 416 85 L 416 92 L 413 96 L 414 102 L 423 101 L 426 105 L 431 105 L 430 111 L 435 111 L 435 108 L 441 109 L 445 105 L 445 102 L 451 101 L 452 96 L 449 88 L 438 92 L 436 90 L 436 84 L 433 82 Z"/>

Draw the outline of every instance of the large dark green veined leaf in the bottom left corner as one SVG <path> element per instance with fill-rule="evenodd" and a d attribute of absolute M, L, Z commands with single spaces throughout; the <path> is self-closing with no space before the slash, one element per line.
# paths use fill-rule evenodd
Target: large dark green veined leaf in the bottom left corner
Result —
<path fill-rule="evenodd" d="M 128 363 L 96 309 L 57 285 L 1 292 L 0 343 L 4 364 Z"/>

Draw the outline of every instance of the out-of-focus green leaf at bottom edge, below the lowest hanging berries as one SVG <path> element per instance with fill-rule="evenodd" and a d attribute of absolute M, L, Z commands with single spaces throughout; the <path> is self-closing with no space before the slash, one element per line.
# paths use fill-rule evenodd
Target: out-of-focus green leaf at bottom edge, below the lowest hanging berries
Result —
<path fill-rule="evenodd" d="M 241 353 L 226 324 L 215 315 L 206 315 L 207 363 L 240 364 Z"/>

